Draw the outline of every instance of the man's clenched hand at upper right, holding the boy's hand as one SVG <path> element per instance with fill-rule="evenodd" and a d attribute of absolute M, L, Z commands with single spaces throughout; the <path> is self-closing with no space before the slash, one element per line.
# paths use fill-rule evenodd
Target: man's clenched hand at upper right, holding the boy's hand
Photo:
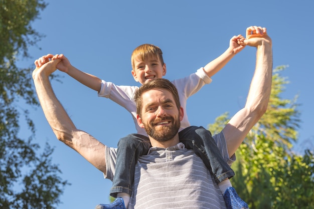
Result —
<path fill-rule="evenodd" d="M 246 29 L 246 39 L 239 40 L 238 44 L 258 47 L 265 44 L 271 45 L 271 39 L 267 35 L 266 28 L 251 26 Z"/>

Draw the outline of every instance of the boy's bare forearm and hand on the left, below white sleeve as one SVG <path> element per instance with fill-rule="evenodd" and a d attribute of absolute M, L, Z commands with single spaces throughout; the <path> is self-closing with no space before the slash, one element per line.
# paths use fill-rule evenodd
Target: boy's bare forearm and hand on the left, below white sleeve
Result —
<path fill-rule="evenodd" d="M 58 63 L 57 69 L 59 69 L 62 72 L 67 73 L 69 76 L 74 78 L 75 80 L 79 81 L 80 83 L 84 84 L 85 86 L 99 92 L 101 88 L 101 80 L 91 74 L 85 73 L 80 71 L 79 69 L 75 68 L 71 65 L 70 61 L 63 55 L 52 55 L 48 54 L 46 56 L 43 56 L 38 59 L 38 66 L 41 67 L 45 63 L 49 62 L 49 60 L 56 60 L 60 59 L 61 62 Z"/>

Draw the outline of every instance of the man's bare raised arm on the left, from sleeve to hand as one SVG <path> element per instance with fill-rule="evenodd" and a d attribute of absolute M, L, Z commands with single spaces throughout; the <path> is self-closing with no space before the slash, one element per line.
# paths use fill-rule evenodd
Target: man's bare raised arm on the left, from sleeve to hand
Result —
<path fill-rule="evenodd" d="M 105 145 L 90 134 L 78 130 L 57 99 L 49 75 L 56 70 L 60 60 L 49 61 L 40 68 L 38 60 L 33 71 L 35 88 L 44 114 L 57 138 L 80 153 L 100 171 L 106 173 Z"/>

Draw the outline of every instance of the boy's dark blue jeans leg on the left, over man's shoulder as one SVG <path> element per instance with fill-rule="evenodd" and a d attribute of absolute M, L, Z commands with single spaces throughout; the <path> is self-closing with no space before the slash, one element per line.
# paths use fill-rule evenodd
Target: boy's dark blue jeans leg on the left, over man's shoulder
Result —
<path fill-rule="evenodd" d="M 148 137 L 140 134 L 129 134 L 119 140 L 111 196 L 117 197 L 120 192 L 132 194 L 135 163 L 139 156 L 147 154 L 149 147 Z"/>

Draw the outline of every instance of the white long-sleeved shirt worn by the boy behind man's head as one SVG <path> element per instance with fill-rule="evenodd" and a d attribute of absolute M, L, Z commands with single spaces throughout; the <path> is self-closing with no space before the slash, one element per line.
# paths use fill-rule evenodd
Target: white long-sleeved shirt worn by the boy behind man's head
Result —
<path fill-rule="evenodd" d="M 209 84 L 211 82 L 212 79 L 206 75 L 204 68 L 198 69 L 196 73 L 193 73 L 190 76 L 172 81 L 178 89 L 180 103 L 185 113 L 184 118 L 181 121 L 179 131 L 190 126 L 186 111 L 187 99 L 198 92 L 205 84 Z M 131 113 L 137 133 L 147 136 L 146 131 L 138 126 L 136 120 L 136 105 L 133 100 L 133 96 L 138 88 L 138 86 L 117 86 L 111 82 L 102 80 L 98 96 L 109 98 L 124 107 L 129 113 Z"/>

